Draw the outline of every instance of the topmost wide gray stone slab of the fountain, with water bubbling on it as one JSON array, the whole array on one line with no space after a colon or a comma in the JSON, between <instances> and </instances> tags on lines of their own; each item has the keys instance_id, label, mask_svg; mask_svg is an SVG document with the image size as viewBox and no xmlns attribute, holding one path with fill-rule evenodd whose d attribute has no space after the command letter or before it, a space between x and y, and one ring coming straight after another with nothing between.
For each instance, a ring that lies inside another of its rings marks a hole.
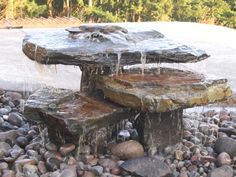
<instances>
[{"instance_id":1,"label":"topmost wide gray stone slab of the fountain, with water bubbling on it","mask_svg":"<svg viewBox=\"0 0 236 177\"><path fill-rule=\"evenodd\" d=\"M147 63L186 63L209 57L202 50L173 42L154 30L128 31L99 25L27 35L23 52L39 63L65 65L110 66L118 60L121 65L132 65L141 63L141 58L146 58Z\"/></svg>"}]
</instances>

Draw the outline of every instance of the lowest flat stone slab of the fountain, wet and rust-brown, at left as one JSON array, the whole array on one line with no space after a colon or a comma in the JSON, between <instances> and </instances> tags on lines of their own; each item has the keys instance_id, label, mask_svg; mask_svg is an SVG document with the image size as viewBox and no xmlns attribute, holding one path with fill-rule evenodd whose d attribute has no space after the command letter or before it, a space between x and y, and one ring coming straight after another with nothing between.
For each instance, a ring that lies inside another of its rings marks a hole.
<instances>
[{"instance_id":1,"label":"lowest flat stone slab of the fountain, wet and rust-brown, at left","mask_svg":"<svg viewBox=\"0 0 236 177\"><path fill-rule=\"evenodd\" d=\"M79 92L45 88L27 100L25 116L44 121L55 131L78 135L126 119L128 113L122 107Z\"/></svg>"}]
</instances>

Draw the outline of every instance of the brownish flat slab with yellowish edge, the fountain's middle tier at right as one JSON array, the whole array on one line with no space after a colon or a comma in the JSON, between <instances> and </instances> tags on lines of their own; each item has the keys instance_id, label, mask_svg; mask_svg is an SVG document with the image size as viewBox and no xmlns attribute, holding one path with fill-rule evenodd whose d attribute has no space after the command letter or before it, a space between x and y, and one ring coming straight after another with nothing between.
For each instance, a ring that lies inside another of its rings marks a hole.
<instances>
[{"instance_id":1,"label":"brownish flat slab with yellowish edge, the fountain's middle tier at right","mask_svg":"<svg viewBox=\"0 0 236 177\"><path fill-rule=\"evenodd\" d=\"M96 85L113 102L150 112L206 105L232 95L226 79L209 80L190 71L170 68L144 75L134 70L100 76Z\"/></svg>"}]
</instances>

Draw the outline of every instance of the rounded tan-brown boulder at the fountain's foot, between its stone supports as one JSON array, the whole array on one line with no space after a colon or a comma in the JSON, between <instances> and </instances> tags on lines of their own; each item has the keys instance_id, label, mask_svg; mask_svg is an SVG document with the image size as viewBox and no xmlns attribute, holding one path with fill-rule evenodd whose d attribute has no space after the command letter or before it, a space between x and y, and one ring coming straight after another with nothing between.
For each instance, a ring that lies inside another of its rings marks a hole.
<instances>
[{"instance_id":1,"label":"rounded tan-brown boulder at the fountain's foot, between its stone supports","mask_svg":"<svg viewBox=\"0 0 236 177\"><path fill-rule=\"evenodd\" d=\"M132 159L144 155L143 146L134 140L125 141L112 147L111 152L120 159Z\"/></svg>"}]
</instances>

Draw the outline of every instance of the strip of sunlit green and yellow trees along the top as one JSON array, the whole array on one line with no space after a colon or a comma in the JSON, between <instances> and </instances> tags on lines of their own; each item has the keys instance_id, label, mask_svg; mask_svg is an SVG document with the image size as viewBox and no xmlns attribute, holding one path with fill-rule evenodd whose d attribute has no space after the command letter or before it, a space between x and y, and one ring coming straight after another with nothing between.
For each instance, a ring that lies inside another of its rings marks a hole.
<instances>
[{"instance_id":1,"label":"strip of sunlit green and yellow trees along the top","mask_svg":"<svg viewBox=\"0 0 236 177\"><path fill-rule=\"evenodd\" d=\"M0 0L0 20L64 16L81 22L190 21L236 28L236 0Z\"/></svg>"}]
</instances>

